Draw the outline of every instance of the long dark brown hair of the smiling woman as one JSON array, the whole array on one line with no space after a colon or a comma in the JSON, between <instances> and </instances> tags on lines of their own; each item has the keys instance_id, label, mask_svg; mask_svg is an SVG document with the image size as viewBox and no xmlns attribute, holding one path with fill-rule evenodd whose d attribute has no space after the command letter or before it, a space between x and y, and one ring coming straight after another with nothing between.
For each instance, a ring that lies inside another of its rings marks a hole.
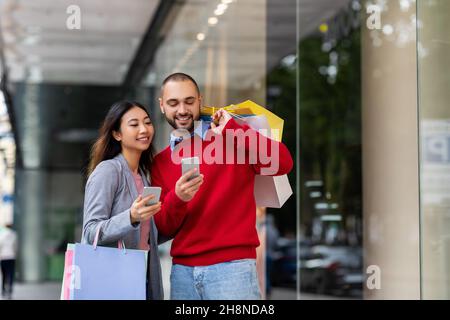
<instances>
[{"instance_id":1,"label":"long dark brown hair of the smiling woman","mask_svg":"<svg viewBox=\"0 0 450 320\"><path fill-rule=\"evenodd\" d=\"M122 151L120 142L114 139L112 134L113 131L120 130L120 123L123 115L134 107L144 110L150 118L147 109L136 101L119 101L111 106L105 120L102 123L102 126L100 127L99 137L91 148L88 176L94 171L100 162L112 159ZM150 172L154 154L153 143L151 143L150 147L142 152L141 158L139 159L139 168L141 168L147 175Z\"/></svg>"}]
</instances>

